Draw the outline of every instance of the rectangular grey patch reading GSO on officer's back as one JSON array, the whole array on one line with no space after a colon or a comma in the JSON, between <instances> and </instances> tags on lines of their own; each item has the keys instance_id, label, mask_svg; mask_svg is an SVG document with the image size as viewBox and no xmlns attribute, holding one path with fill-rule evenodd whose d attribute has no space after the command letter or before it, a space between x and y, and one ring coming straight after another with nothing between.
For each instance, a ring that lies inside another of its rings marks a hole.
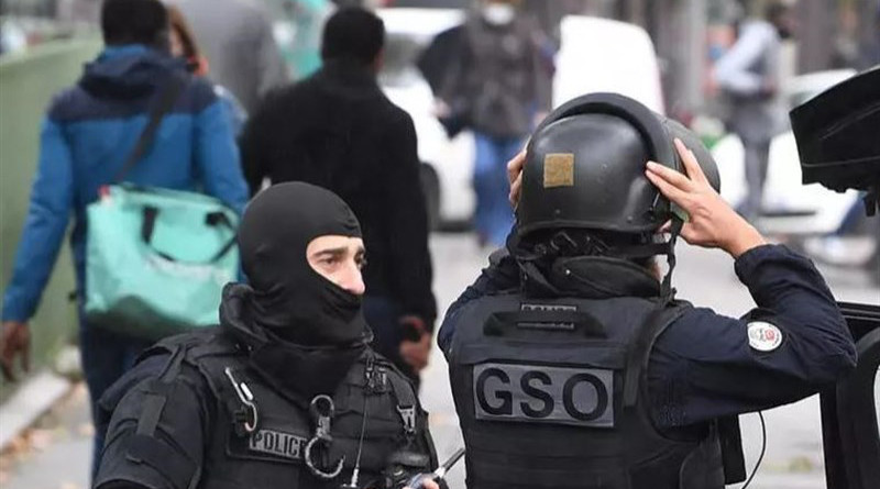
<instances>
[{"instance_id":1,"label":"rectangular grey patch reading GSO on officer's back","mask_svg":"<svg viewBox=\"0 0 880 489\"><path fill-rule=\"evenodd\" d=\"M477 420L614 426L614 373L543 365L474 366Z\"/></svg>"}]
</instances>

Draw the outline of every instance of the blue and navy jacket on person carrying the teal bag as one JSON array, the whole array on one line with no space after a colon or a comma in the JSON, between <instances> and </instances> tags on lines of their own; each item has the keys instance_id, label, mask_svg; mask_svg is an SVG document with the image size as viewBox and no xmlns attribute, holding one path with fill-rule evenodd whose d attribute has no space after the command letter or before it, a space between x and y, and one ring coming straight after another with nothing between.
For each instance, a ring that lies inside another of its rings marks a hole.
<instances>
[{"instance_id":1,"label":"blue and navy jacket on person carrying the teal bag","mask_svg":"<svg viewBox=\"0 0 880 489\"><path fill-rule=\"evenodd\" d=\"M40 302L70 214L70 245L81 291L86 207L112 184L147 122L147 111L182 62L140 45L108 47L61 92L43 122L40 162L3 321L29 320ZM211 84L189 78L152 147L125 177L138 185L200 190L241 212L248 201L239 152Z\"/></svg>"}]
</instances>

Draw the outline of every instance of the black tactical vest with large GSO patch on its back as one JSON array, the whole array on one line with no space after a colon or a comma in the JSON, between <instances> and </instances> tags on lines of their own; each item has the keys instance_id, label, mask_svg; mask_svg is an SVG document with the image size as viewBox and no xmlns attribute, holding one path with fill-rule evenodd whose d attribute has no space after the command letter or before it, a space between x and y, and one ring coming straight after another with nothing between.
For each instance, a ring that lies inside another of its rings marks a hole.
<instances>
[{"instance_id":1,"label":"black tactical vest with large GSO patch on its back","mask_svg":"<svg viewBox=\"0 0 880 489\"><path fill-rule=\"evenodd\" d=\"M660 434L645 370L684 305L487 296L460 312L450 381L468 487L722 489L714 425Z\"/></svg>"}]
</instances>

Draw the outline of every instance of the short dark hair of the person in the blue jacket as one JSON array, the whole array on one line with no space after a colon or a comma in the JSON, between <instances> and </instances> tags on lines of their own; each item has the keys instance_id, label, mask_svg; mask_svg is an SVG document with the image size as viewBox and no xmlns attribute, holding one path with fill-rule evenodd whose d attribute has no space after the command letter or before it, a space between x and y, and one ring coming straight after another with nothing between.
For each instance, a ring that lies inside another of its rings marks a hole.
<instances>
[{"instance_id":1,"label":"short dark hair of the person in the blue jacket","mask_svg":"<svg viewBox=\"0 0 880 489\"><path fill-rule=\"evenodd\" d=\"M106 44L167 44L168 12L160 0L105 0L101 32Z\"/></svg>"}]
</instances>

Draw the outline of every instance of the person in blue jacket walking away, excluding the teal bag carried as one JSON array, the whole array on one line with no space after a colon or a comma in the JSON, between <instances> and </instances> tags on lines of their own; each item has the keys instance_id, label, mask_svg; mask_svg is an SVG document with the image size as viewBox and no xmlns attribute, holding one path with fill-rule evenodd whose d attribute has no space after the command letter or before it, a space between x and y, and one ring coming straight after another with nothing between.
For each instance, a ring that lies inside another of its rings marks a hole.
<instances>
[{"instance_id":1,"label":"person in blue jacket walking away, excluding the teal bag carried","mask_svg":"<svg viewBox=\"0 0 880 489\"><path fill-rule=\"evenodd\" d=\"M168 55L163 4L106 0L101 30L105 49L86 65L76 86L54 99L43 123L31 204L3 297L0 360L10 380L16 357L26 363L28 321L40 303L70 214L77 292L86 297L86 207L98 199L102 186L114 181L147 123L147 111L172 77L185 80L174 118L163 120L153 147L130 171L129 180L170 189L202 188L239 211L248 200L222 102L210 84L186 76L184 64ZM81 302L79 345L92 408L147 346L89 324ZM96 454L101 446L96 436Z\"/></svg>"}]
</instances>

